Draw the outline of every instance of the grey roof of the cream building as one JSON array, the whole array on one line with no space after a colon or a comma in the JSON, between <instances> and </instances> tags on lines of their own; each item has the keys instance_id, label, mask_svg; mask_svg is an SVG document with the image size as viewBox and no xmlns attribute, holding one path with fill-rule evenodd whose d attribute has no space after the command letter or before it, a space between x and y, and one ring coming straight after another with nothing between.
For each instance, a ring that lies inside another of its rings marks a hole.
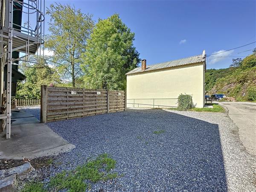
<instances>
[{"instance_id":1,"label":"grey roof of the cream building","mask_svg":"<svg viewBox=\"0 0 256 192\"><path fill-rule=\"evenodd\" d=\"M196 55L196 56L177 59L177 60L173 60L173 61L167 61L164 63L149 65L149 66L147 66L147 68L144 71L141 70L141 67L137 67L134 70L131 70L128 73L126 73L126 75L132 74L132 73L140 73L140 72L158 70L158 69L163 69L163 68L168 68L168 67L175 67L175 66L180 66L180 65L198 63L198 62L204 62L204 58L202 57L202 55Z\"/></svg>"}]
</instances>

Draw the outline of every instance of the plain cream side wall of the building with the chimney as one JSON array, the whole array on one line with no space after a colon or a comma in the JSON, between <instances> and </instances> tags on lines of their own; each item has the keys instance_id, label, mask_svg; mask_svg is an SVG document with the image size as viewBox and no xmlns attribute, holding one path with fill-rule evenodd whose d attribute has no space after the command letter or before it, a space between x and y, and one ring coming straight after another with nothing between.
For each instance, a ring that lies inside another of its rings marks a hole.
<instances>
[{"instance_id":1,"label":"plain cream side wall of the building with the chimney","mask_svg":"<svg viewBox=\"0 0 256 192\"><path fill-rule=\"evenodd\" d=\"M181 93L192 95L193 107L204 107L203 62L127 75L127 107L176 107Z\"/></svg>"}]
</instances>

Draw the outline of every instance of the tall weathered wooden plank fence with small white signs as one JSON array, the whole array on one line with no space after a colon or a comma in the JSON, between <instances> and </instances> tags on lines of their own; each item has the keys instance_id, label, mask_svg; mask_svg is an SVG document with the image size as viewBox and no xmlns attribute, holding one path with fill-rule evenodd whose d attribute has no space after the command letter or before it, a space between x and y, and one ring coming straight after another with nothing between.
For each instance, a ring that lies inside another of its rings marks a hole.
<instances>
[{"instance_id":1,"label":"tall weathered wooden plank fence with small white signs","mask_svg":"<svg viewBox=\"0 0 256 192\"><path fill-rule=\"evenodd\" d=\"M126 110L122 90L41 86L41 122Z\"/></svg>"}]
</instances>

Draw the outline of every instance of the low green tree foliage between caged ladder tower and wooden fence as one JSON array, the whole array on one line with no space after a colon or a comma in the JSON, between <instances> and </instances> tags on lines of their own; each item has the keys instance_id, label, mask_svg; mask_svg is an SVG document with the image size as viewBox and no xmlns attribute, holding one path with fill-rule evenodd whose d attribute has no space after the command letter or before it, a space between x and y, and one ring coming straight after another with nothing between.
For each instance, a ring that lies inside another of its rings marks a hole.
<instances>
[{"instance_id":1,"label":"low green tree foliage between caged ladder tower and wooden fence","mask_svg":"<svg viewBox=\"0 0 256 192\"><path fill-rule=\"evenodd\" d=\"M50 83L61 83L60 76L57 71L47 64L43 68L21 67L25 81L20 81L17 84L17 99L39 99L41 96L41 85Z\"/></svg>"}]
</instances>

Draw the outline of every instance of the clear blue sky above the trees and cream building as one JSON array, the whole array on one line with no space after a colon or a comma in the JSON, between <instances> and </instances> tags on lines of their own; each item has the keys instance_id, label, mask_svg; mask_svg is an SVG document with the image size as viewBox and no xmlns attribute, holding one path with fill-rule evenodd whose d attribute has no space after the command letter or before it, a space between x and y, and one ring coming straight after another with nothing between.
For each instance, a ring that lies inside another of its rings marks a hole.
<instances>
[{"instance_id":1,"label":"clear blue sky above the trees and cream building","mask_svg":"<svg viewBox=\"0 0 256 192\"><path fill-rule=\"evenodd\" d=\"M97 21L118 13L135 33L134 46L147 64L199 55L208 55L256 41L256 1L87 1L45 0L71 4ZM49 21L49 16L46 17ZM47 31L48 25L45 25ZM246 56L251 44L208 58L207 68L226 68L230 56ZM242 52L242 53L239 53ZM244 57L242 57L244 58Z\"/></svg>"}]
</instances>

